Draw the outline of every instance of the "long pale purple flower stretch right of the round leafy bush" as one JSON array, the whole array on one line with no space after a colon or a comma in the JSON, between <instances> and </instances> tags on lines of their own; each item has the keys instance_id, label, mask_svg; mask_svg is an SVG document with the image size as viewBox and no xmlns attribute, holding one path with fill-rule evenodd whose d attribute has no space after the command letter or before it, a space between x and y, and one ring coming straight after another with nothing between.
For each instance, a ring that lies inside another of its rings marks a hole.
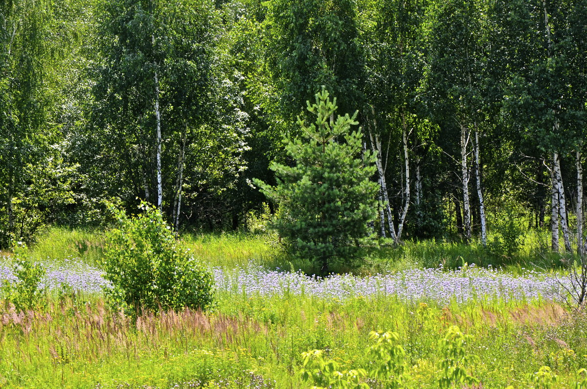
<instances>
[{"instance_id":1,"label":"long pale purple flower stretch right of the round leafy bush","mask_svg":"<svg viewBox=\"0 0 587 389\"><path fill-rule=\"evenodd\" d=\"M399 301L454 300L560 300L564 296L561 283L554 277L536 271L521 276L497 269L410 269L399 273L356 277L331 275L324 279L296 273L269 271L248 267L234 271L214 269L219 291L247 296L305 295L325 299L346 300L356 297L394 297Z\"/></svg>"}]
</instances>

